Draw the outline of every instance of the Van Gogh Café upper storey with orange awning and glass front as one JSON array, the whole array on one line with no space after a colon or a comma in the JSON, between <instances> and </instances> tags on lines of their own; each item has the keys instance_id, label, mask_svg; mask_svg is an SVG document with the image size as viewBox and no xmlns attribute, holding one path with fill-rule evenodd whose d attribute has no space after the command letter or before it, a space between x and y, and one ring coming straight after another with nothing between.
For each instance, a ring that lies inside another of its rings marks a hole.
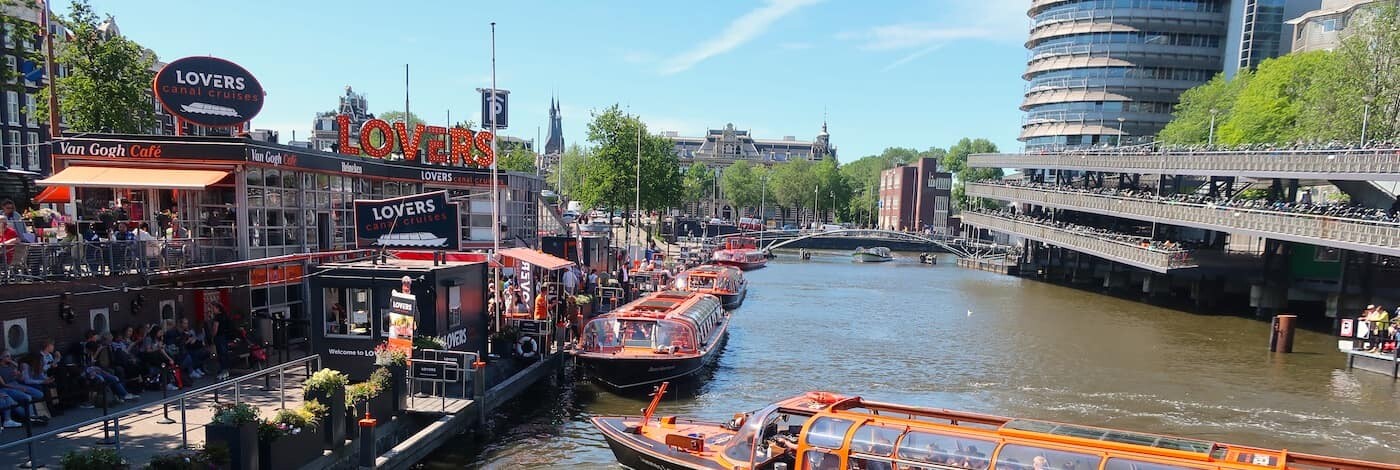
<instances>
[{"instance_id":1,"label":"Van Gogh Caf\u00e9 upper storey with orange awning and glass front","mask_svg":"<svg viewBox=\"0 0 1400 470\"><path fill-rule=\"evenodd\" d=\"M491 182L487 168L245 137L81 134L55 141L52 152L56 171L38 183L52 201L74 203L85 228L147 222L160 236L175 220L202 246L218 248L220 259L204 262L349 249L356 199L480 194ZM511 186L511 175L498 178Z\"/></svg>"}]
</instances>

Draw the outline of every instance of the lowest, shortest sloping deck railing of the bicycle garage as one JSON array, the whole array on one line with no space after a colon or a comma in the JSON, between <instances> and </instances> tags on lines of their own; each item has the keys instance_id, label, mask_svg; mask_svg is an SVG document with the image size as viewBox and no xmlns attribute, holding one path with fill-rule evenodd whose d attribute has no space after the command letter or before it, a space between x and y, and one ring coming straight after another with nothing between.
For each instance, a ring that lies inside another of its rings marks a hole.
<instances>
[{"instance_id":1,"label":"lowest, shortest sloping deck railing of the bicycle garage","mask_svg":"<svg viewBox=\"0 0 1400 470\"><path fill-rule=\"evenodd\" d=\"M962 222L998 232L1063 246L1075 252L1093 255L1106 260L1137 266L1155 273L1193 269L1196 260L1186 250L1161 250L1137 243L1096 236L1071 229L1056 228L1000 215L963 211Z\"/></svg>"}]
</instances>

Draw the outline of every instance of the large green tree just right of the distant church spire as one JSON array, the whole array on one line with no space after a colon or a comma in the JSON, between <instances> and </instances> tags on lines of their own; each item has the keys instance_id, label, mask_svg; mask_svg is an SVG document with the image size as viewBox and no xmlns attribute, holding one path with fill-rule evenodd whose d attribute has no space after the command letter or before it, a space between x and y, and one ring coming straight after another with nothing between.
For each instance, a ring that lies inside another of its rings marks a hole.
<instances>
[{"instance_id":1,"label":"large green tree just right of the distant church spire","mask_svg":"<svg viewBox=\"0 0 1400 470\"><path fill-rule=\"evenodd\" d=\"M680 197L680 168L671 138L648 134L638 118L624 115L617 105L592 116L588 123L592 155L584 165L584 187L578 192L585 206L634 206L638 150L641 208L665 208Z\"/></svg>"}]
</instances>

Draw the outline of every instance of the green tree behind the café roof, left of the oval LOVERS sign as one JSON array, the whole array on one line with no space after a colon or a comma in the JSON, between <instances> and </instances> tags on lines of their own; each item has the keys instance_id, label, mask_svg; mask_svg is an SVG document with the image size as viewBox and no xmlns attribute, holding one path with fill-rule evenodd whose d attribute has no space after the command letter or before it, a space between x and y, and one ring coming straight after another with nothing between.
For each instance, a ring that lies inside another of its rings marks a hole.
<instances>
[{"instance_id":1,"label":"green tree behind the caf\u00e9 roof, left of the oval LOVERS sign","mask_svg":"<svg viewBox=\"0 0 1400 470\"><path fill-rule=\"evenodd\" d=\"M85 0L74 0L62 21L73 38L57 50L67 77L57 78L59 112L73 131L146 133L155 126L151 66L155 55L119 35L98 31ZM39 97L38 118L48 119L49 90Z\"/></svg>"}]
</instances>

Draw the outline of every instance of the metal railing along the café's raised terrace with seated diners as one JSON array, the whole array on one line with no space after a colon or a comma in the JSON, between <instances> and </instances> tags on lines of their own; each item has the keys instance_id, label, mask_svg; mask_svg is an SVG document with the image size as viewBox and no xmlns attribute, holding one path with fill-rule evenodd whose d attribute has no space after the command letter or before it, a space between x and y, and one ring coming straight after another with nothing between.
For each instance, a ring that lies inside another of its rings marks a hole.
<instances>
[{"instance_id":1,"label":"metal railing along the caf\u00e9's raised terrace with seated diners","mask_svg":"<svg viewBox=\"0 0 1400 470\"><path fill-rule=\"evenodd\" d=\"M238 260L231 239L39 242L0 248L0 284L150 274Z\"/></svg>"}]
</instances>

